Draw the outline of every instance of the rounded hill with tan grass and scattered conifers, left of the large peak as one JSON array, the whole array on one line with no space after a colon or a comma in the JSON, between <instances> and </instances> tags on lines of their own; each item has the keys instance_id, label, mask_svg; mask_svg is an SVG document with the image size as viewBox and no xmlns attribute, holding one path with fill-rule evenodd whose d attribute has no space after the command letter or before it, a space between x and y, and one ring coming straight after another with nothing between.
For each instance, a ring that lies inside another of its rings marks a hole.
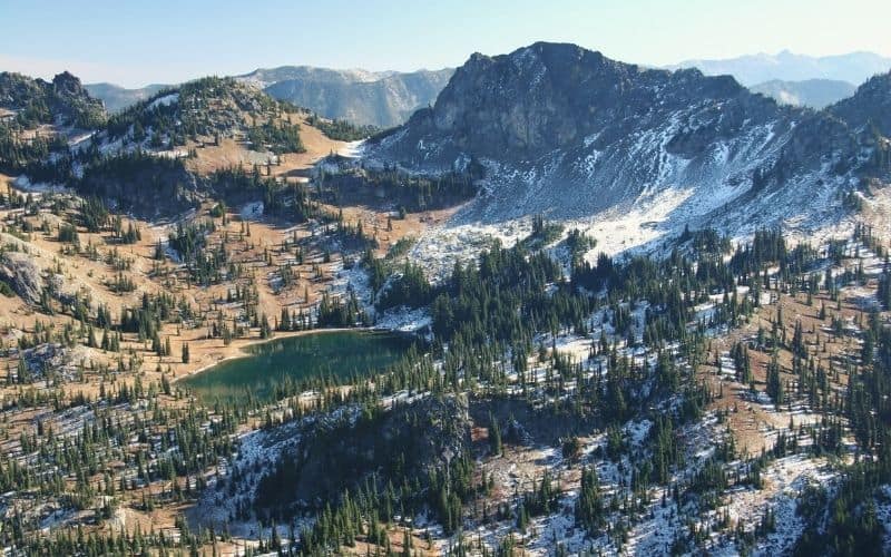
<instances>
[{"instance_id":1,"label":"rounded hill with tan grass and scattered conifers, left of the large peak","mask_svg":"<svg viewBox=\"0 0 891 557\"><path fill-rule=\"evenodd\" d=\"M77 137L72 131L59 135L58 126L22 130L33 138L11 141L6 149L19 160L7 167L22 174L17 184L31 189L65 186L119 211L158 218L194 208L207 197L229 203L262 198L260 190L234 187L233 173L260 175L262 167L266 179L277 180L273 189L283 189L305 180L317 159L345 148L345 141L330 136L353 139L371 133L278 101L233 78L189 81L107 120L101 115L92 123L95 129ZM258 187L261 180L247 182Z\"/></svg>"}]
</instances>

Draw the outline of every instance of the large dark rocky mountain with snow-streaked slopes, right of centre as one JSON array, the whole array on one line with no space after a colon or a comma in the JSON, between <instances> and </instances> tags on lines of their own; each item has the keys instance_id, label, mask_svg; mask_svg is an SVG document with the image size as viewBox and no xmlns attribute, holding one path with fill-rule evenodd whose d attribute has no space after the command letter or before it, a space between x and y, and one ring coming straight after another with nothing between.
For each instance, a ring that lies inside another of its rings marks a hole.
<instances>
[{"instance_id":1,"label":"large dark rocky mountain with snow-streaked slopes, right of centre","mask_svg":"<svg viewBox=\"0 0 891 557\"><path fill-rule=\"evenodd\" d=\"M887 98L885 85L814 113L730 76L538 42L472 55L431 108L371 141L366 160L428 174L478 160L482 193L456 223L545 214L594 225L634 214L626 224L655 237L691 223L809 229L838 221L839 195L869 170L869 140L852 118L872 114L859 108Z\"/></svg>"}]
</instances>

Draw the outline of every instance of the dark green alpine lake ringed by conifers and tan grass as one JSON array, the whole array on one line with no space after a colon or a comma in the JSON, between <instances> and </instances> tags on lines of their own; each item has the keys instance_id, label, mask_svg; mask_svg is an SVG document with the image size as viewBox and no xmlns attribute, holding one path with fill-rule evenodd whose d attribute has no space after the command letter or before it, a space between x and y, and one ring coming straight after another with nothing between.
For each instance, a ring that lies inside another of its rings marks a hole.
<instances>
[{"instance_id":1,"label":"dark green alpine lake ringed by conifers and tan grass","mask_svg":"<svg viewBox=\"0 0 891 557\"><path fill-rule=\"evenodd\" d=\"M278 339L245 350L184 378L180 384L206 403L238 401L252 395L268 400L275 384L319 377L349 378L382 371L402 358L417 341L408 335L371 331L320 331Z\"/></svg>"}]
</instances>

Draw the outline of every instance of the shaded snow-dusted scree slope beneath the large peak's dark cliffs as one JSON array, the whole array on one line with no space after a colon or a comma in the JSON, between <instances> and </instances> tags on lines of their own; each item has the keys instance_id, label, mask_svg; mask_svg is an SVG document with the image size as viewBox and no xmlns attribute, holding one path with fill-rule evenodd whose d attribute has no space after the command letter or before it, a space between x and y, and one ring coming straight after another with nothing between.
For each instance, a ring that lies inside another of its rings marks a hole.
<instances>
[{"instance_id":1,"label":"shaded snow-dusted scree slope beneath the large peak's dark cliffs","mask_svg":"<svg viewBox=\"0 0 891 557\"><path fill-rule=\"evenodd\" d=\"M634 211L663 209L674 219L704 217L752 188L752 173L777 156L782 146L773 123L716 140L694 156L669 148L697 107L674 113L656 128L642 129L610 145L586 138L536 162L487 159L480 199L460 215L464 222L498 223L525 215L581 219ZM785 133L789 135L789 131Z\"/></svg>"}]
</instances>

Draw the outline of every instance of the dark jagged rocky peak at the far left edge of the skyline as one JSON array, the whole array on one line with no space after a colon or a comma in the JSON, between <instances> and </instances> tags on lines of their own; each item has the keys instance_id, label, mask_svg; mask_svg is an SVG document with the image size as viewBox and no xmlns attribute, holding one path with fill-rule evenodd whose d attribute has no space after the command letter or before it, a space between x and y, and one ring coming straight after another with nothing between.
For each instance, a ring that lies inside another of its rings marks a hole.
<instances>
[{"instance_id":1,"label":"dark jagged rocky peak at the far left edge of the skyline","mask_svg":"<svg viewBox=\"0 0 891 557\"><path fill-rule=\"evenodd\" d=\"M106 118L102 104L67 71L52 81L0 72L0 108L16 113L18 123L26 128L39 124L91 128Z\"/></svg>"}]
</instances>

